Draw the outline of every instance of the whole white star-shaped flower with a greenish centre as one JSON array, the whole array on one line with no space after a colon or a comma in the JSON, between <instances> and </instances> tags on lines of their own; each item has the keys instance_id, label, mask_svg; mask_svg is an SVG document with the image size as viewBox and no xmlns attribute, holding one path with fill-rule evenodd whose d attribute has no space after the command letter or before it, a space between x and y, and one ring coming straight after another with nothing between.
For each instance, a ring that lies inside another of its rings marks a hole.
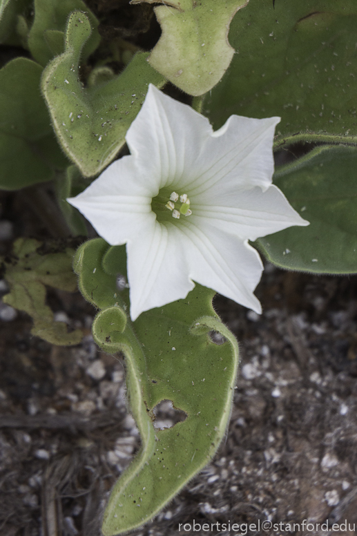
<instances>
[{"instance_id":1,"label":"whole white star-shaped flower with a greenish centre","mask_svg":"<svg viewBox=\"0 0 357 536\"><path fill-rule=\"evenodd\" d=\"M110 245L126 244L131 318L194 281L260 313L262 261L248 240L308 225L271 184L279 117L208 119L149 86L116 160L68 199Z\"/></svg>"}]
</instances>

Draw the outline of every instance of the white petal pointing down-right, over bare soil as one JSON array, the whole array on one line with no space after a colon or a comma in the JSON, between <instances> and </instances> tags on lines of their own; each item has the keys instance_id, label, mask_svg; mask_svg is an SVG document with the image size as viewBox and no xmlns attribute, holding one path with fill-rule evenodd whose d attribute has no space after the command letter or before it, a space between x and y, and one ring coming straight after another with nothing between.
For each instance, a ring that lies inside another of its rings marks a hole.
<instances>
[{"instance_id":1,"label":"white petal pointing down-right, over bare soil","mask_svg":"<svg viewBox=\"0 0 357 536\"><path fill-rule=\"evenodd\" d=\"M202 232L189 222L180 229L189 239L185 251L189 277L237 303L262 312L253 290L262 275L262 260L248 241L224 234L207 225Z\"/></svg>"}]
</instances>

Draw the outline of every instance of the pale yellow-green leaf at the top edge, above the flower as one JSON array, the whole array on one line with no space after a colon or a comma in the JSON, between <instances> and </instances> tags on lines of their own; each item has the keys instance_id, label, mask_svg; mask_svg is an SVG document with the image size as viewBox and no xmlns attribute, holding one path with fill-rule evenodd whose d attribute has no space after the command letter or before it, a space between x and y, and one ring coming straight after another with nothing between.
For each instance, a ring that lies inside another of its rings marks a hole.
<instances>
[{"instance_id":1,"label":"pale yellow-green leaf at the top edge, above the flower","mask_svg":"<svg viewBox=\"0 0 357 536\"><path fill-rule=\"evenodd\" d=\"M234 54L228 42L235 12L249 0L132 0L155 7L162 36L149 63L189 95L202 95L220 81Z\"/></svg>"}]
</instances>

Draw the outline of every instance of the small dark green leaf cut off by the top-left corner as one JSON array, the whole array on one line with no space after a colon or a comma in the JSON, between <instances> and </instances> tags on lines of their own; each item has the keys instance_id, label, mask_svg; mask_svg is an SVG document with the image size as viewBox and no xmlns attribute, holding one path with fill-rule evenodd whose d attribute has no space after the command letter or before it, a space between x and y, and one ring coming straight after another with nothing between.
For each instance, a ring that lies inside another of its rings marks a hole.
<instances>
[{"instance_id":1,"label":"small dark green leaf cut off by the top-left corner","mask_svg":"<svg viewBox=\"0 0 357 536\"><path fill-rule=\"evenodd\" d=\"M26 12L31 0L0 0L0 43L22 46L22 39L17 35L19 17ZM23 20L21 19L21 22Z\"/></svg>"}]
</instances>

